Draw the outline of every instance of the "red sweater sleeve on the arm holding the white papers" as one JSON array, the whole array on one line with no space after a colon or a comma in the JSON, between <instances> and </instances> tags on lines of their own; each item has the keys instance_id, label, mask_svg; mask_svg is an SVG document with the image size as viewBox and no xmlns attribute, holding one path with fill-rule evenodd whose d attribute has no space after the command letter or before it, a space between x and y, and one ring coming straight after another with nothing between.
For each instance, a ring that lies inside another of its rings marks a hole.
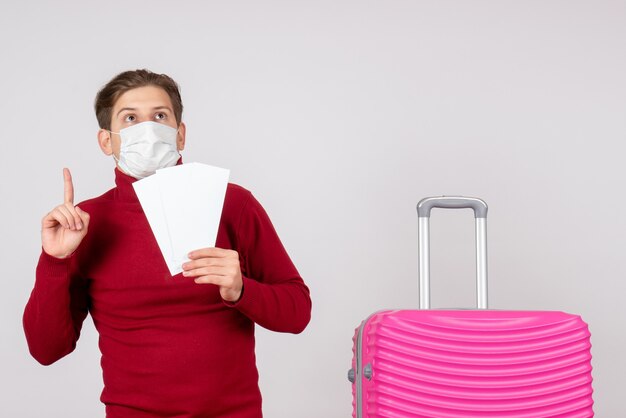
<instances>
[{"instance_id":1,"label":"red sweater sleeve on the arm holding the white papers","mask_svg":"<svg viewBox=\"0 0 626 418\"><path fill-rule=\"evenodd\" d=\"M309 289L251 194L241 212L237 238L243 295L230 306L269 330L302 332L311 319Z\"/></svg>"}]
</instances>

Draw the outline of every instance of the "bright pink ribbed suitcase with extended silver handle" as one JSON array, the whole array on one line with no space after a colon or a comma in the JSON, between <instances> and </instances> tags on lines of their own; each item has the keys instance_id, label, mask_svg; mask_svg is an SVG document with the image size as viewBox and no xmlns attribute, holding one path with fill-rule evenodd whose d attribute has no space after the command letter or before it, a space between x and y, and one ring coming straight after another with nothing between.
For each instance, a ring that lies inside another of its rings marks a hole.
<instances>
[{"instance_id":1,"label":"bright pink ribbed suitcase with extended silver handle","mask_svg":"<svg viewBox=\"0 0 626 418\"><path fill-rule=\"evenodd\" d=\"M477 310L430 310L434 207L472 208ZM354 336L353 417L593 417L591 343L578 315L487 309L487 205L466 197L417 205L420 310L384 310Z\"/></svg>"}]
</instances>

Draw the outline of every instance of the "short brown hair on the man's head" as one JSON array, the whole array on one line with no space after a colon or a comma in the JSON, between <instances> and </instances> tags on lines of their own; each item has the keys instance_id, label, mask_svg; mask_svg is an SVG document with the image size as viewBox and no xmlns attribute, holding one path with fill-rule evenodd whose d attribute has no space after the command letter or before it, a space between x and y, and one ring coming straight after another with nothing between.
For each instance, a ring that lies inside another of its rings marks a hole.
<instances>
[{"instance_id":1,"label":"short brown hair on the man's head","mask_svg":"<svg viewBox=\"0 0 626 418\"><path fill-rule=\"evenodd\" d=\"M156 86L165 90L172 101L176 123L180 124L183 116L183 102L180 98L178 84L166 74L156 74L150 70L143 69L124 71L116 75L98 92L94 108L100 128L111 129L111 112L113 111L115 102L117 102L117 99L119 99L122 94L129 90L145 86Z\"/></svg>"}]
</instances>

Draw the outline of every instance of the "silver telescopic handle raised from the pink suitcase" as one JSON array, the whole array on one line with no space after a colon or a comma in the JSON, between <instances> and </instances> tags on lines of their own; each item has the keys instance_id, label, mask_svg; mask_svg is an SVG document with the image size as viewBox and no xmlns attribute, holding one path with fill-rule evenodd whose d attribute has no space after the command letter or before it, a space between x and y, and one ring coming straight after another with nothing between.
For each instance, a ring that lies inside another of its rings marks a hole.
<instances>
[{"instance_id":1,"label":"silver telescopic handle raised from the pink suitcase","mask_svg":"<svg viewBox=\"0 0 626 418\"><path fill-rule=\"evenodd\" d=\"M417 204L419 307L430 309L430 211L432 208L473 209L476 218L476 305L488 308L487 204L475 197L427 197Z\"/></svg>"}]
</instances>

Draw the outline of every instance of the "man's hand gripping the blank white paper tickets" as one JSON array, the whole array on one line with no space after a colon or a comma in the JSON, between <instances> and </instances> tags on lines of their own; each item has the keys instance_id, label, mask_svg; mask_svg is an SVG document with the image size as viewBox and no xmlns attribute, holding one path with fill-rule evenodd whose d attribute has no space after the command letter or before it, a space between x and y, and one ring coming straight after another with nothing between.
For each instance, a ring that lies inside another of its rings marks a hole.
<instances>
[{"instance_id":1,"label":"man's hand gripping the blank white paper tickets","mask_svg":"<svg viewBox=\"0 0 626 418\"><path fill-rule=\"evenodd\" d=\"M196 283L219 286L220 295L227 302L239 300L243 280L237 251L202 248L190 252L189 259L183 264L183 276L195 277Z\"/></svg>"}]
</instances>

